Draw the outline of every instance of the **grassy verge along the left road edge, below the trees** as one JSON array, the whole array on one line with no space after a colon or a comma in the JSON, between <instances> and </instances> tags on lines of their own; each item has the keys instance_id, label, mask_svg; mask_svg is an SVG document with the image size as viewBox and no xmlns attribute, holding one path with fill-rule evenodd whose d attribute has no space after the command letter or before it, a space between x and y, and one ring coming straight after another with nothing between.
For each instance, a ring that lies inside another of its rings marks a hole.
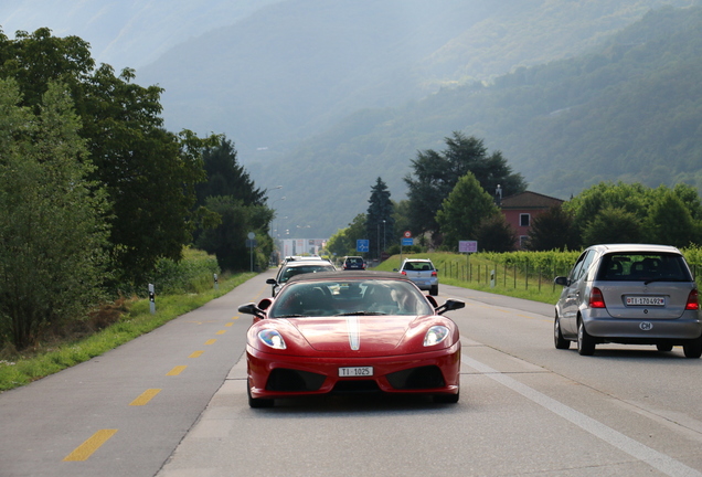
<instances>
[{"instance_id":1,"label":"grassy verge along the left road edge, below the trees","mask_svg":"<svg viewBox=\"0 0 702 477\"><path fill-rule=\"evenodd\" d=\"M255 274L245 273L220 279L220 287L216 290L158 296L153 315L151 315L148 299L128 300L125 305L127 311L119 320L100 331L77 340L40 346L31 351L0 360L0 391L19 388L103 354L225 295L253 276Z\"/></svg>"}]
</instances>

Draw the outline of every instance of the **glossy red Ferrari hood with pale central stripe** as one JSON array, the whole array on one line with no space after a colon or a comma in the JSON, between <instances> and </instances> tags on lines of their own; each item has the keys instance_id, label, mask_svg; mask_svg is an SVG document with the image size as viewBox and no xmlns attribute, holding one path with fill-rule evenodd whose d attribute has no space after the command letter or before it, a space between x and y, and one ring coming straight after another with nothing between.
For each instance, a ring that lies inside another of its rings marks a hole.
<instances>
[{"instance_id":1,"label":"glossy red Ferrari hood with pale central stripe","mask_svg":"<svg viewBox=\"0 0 702 477\"><path fill-rule=\"evenodd\" d=\"M390 352L397 348L415 316L291 318L290 324L317 351Z\"/></svg>"}]
</instances>

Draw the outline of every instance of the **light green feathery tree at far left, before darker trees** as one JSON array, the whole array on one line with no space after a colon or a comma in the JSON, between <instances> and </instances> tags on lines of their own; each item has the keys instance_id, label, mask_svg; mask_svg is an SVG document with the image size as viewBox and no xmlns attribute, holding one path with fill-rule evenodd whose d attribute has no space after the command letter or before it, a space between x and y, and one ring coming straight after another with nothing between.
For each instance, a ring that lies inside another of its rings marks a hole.
<instances>
[{"instance_id":1,"label":"light green feathery tree at far left, before darker trees","mask_svg":"<svg viewBox=\"0 0 702 477\"><path fill-rule=\"evenodd\" d=\"M71 98L50 83L36 116L20 98L0 80L0 338L18 349L84 315L108 277L107 202Z\"/></svg>"}]
</instances>

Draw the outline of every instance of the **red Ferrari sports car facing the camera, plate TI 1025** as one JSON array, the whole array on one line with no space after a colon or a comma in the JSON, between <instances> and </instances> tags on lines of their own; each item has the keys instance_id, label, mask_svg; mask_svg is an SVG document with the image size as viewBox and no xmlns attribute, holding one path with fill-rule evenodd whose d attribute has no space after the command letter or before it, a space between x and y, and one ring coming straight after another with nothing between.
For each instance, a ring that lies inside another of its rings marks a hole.
<instances>
[{"instance_id":1,"label":"red Ferrari sports car facing the camera, plate TI 1025","mask_svg":"<svg viewBox=\"0 0 702 477\"><path fill-rule=\"evenodd\" d=\"M242 305L254 316L246 359L248 404L344 392L459 398L460 339L437 306L404 275L322 272L290 278L275 298Z\"/></svg>"}]
</instances>

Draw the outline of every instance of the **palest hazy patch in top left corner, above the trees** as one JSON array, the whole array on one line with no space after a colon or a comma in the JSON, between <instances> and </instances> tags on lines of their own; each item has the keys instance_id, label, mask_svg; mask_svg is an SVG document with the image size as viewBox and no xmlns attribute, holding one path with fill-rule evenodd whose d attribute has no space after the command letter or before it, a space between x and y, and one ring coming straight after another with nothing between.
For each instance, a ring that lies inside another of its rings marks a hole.
<instances>
[{"instance_id":1,"label":"palest hazy patch in top left corner, above the trees","mask_svg":"<svg viewBox=\"0 0 702 477\"><path fill-rule=\"evenodd\" d=\"M174 45L279 0L3 0L6 35L47 26L91 43L99 63L140 67Z\"/></svg>"}]
</instances>

